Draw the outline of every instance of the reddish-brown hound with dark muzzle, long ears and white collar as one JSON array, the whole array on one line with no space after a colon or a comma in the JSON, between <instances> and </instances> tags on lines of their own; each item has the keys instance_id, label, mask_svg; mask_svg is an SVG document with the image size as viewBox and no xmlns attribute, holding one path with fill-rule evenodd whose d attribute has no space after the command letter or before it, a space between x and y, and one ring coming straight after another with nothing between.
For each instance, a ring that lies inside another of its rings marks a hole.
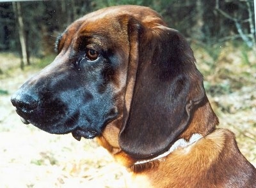
<instances>
[{"instance_id":1,"label":"reddish-brown hound with dark muzzle, long ears and white collar","mask_svg":"<svg viewBox=\"0 0 256 188\"><path fill-rule=\"evenodd\" d=\"M216 128L188 42L156 11L89 13L56 50L12 96L22 122L97 138L131 173L131 187L256 187L234 134Z\"/></svg>"}]
</instances>

